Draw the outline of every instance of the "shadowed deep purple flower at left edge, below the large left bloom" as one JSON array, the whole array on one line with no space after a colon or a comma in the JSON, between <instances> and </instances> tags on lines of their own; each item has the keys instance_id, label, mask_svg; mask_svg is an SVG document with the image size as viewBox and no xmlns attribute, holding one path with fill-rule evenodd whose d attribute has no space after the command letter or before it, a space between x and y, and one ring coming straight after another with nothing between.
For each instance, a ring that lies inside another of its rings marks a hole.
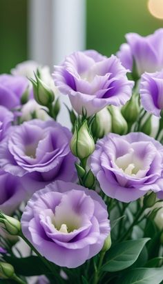
<instances>
[{"instance_id":1,"label":"shadowed deep purple flower at left edge, below the large left bloom","mask_svg":"<svg viewBox=\"0 0 163 284\"><path fill-rule=\"evenodd\" d=\"M18 176L0 170L0 210L12 214L26 198Z\"/></svg>"}]
</instances>

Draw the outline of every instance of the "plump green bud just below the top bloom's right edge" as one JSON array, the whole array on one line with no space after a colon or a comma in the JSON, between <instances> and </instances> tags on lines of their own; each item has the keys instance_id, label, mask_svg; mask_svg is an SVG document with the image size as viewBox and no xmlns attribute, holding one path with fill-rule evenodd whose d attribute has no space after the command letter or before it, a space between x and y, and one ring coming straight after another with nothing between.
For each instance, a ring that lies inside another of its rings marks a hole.
<instances>
[{"instance_id":1,"label":"plump green bud just below the top bloom's right edge","mask_svg":"<svg viewBox=\"0 0 163 284\"><path fill-rule=\"evenodd\" d=\"M139 95L133 94L131 99L122 107L122 114L128 123L134 123L140 114Z\"/></svg>"}]
</instances>

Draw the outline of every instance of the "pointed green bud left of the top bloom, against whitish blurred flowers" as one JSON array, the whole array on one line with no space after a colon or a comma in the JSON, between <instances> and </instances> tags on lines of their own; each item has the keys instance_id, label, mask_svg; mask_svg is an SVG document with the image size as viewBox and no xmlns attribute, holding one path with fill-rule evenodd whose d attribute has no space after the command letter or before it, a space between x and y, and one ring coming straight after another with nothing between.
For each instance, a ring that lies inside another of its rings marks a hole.
<instances>
[{"instance_id":1,"label":"pointed green bud left of the top bloom, against whitish blurred flowers","mask_svg":"<svg viewBox=\"0 0 163 284\"><path fill-rule=\"evenodd\" d=\"M44 105L44 106L50 105L52 101L54 101L55 99L54 92L36 74L35 78L36 81L30 79L33 85L33 93L35 100L37 101L37 103L39 103L39 105Z\"/></svg>"}]
</instances>

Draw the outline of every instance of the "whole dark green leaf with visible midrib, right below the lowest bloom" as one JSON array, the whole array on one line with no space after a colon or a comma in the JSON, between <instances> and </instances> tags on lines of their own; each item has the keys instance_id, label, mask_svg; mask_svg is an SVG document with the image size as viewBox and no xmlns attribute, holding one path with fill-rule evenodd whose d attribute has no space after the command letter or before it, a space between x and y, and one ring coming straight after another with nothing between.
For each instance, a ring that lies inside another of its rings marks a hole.
<instances>
[{"instance_id":1,"label":"whole dark green leaf with visible midrib, right below the lowest bloom","mask_svg":"<svg viewBox=\"0 0 163 284\"><path fill-rule=\"evenodd\" d=\"M124 241L113 245L108 252L108 259L102 266L102 270L116 272L133 265L147 241L149 239L146 238Z\"/></svg>"}]
</instances>

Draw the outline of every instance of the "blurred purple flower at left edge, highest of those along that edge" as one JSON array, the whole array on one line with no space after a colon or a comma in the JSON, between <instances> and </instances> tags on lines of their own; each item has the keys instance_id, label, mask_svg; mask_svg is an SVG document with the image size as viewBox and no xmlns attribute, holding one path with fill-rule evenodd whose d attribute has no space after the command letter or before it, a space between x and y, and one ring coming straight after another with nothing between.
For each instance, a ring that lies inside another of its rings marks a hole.
<instances>
[{"instance_id":1,"label":"blurred purple flower at left edge, highest of those along that edge","mask_svg":"<svg viewBox=\"0 0 163 284\"><path fill-rule=\"evenodd\" d=\"M21 97L27 90L29 81L25 77L0 75L0 105L9 110L21 105Z\"/></svg>"}]
</instances>

